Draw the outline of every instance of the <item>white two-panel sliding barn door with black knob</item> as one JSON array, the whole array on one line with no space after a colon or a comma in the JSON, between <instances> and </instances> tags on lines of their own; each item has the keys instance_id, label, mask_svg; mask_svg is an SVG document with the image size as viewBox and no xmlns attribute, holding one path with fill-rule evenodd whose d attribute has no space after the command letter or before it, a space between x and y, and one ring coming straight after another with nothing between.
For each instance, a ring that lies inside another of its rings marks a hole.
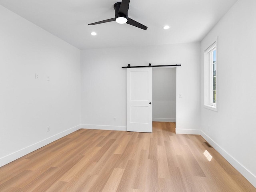
<instances>
[{"instance_id":1,"label":"white two-panel sliding barn door with black knob","mask_svg":"<svg viewBox=\"0 0 256 192\"><path fill-rule=\"evenodd\" d=\"M127 68L127 131L152 133L152 68Z\"/></svg>"}]
</instances>

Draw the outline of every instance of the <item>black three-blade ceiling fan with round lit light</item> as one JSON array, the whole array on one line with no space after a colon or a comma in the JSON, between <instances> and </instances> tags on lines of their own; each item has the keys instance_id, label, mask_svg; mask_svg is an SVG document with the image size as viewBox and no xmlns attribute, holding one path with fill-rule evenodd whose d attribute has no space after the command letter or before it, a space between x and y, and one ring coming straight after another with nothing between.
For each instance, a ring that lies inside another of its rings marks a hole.
<instances>
[{"instance_id":1,"label":"black three-blade ceiling fan with round lit light","mask_svg":"<svg viewBox=\"0 0 256 192\"><path fill-rule=\"evenodd\" d=\"M111 19L107 19L107 20L103 20L95 23L90 23L88 25L97 25L101 23L116 21L119 24L127 23L129 25L141 28L143 30L147 30L148 27L140 24L139 22L132 20L131 18L128 18L129 3L130 3L130 0L122 0L122 2L115 3L114 4L115 18L111 18Z\"/></svg>"}]
</instances>

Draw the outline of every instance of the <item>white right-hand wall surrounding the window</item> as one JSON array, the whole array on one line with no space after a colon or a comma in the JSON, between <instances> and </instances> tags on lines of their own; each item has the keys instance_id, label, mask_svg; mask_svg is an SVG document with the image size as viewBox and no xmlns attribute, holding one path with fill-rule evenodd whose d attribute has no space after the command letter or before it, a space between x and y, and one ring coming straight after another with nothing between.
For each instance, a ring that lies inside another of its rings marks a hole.
<instances>
[{"instance_id":1,"label":"white right-hand wall surrounding the window","mask_svg":"<svg viewBox=\"0 0 256 192\"><path fill-rule=\"evenodd\" d=\"M218 112L204 108L203 101L201 102L202 135L254 186L256 186L255 10L255 0L238 0L201 43L203 69L204 50L218 36ZM203 90L203 70L201 77ZM203 94L201 98L204 98Z\"/></svg>"}]
</instances>

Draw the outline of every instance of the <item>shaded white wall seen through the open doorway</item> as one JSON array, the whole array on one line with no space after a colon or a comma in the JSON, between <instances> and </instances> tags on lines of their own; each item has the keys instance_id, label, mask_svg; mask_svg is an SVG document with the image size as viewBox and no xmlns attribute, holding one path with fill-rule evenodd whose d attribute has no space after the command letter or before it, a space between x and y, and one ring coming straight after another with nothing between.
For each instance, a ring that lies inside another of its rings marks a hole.
<instances>
[{"instance_id":1,"label":"shaded white wall seen through the open doorway","mask_svg":"<svg viewBox=\"0 0 256 192\"><path fill-rule=\"evenodd\" d=\"M153 121L176 122L176 67L153 68Z\"/></svg>"}]
</instances>

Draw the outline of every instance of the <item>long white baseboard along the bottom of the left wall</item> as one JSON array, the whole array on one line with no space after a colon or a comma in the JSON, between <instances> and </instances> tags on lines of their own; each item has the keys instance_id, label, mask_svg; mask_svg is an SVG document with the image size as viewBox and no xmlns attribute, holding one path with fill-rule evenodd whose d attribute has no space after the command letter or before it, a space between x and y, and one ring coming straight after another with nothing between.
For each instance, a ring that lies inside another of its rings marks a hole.
<instances>
[{"instance_id":1,"label":"long white baseboard along the bottom of the left wall","mask_svg":"<svg viewBox=\"0 0 256 192\"><path fill-rule=\"evenodd\" d=\"M20 149L20 150L18 150L16 152L13 152L13 153L8 154L8 155L6 155L4 157L1 157L0 158L0 167L4 166L4 165L6 165L6 164L8 164L8 163L10 163L10 162L12 162L14 160L16 160L16 159L18 159L18 158L20 158L20 157L22 157L22 156L24 156L26 154L29 154L30 152L33 152L34 150L37 150L38 148L41 148L41 147L43 147L43 146L45 146L45 145L47 145L49 143L52 143L53 141L56 141L56 140L66 136L66 135L68 135L70 133L73 133L74 131L77 131L78 129L81 129L80 125L77 125L76 127L72 127L72 128L67 129L65 131L62 131L62 132L60 132L60 133L58 133L56 135L53 135L51 137L48 137L48 138L46 138L46 139L44 139L42 141L39 141L39 142L34 143L34 144L30 145L30 146L22 148L22 149Z\"/></svg>"}]
</instances>

